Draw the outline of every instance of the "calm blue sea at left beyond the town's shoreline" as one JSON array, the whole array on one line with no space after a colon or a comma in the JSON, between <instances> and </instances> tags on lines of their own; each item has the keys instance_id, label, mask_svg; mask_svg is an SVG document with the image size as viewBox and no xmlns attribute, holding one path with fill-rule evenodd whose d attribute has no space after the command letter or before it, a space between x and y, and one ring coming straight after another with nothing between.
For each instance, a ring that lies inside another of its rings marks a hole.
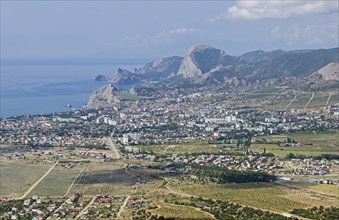
<instances>
[{"instance_id":1,"label":"calm blue sea at left beyond the town's shoreline","mask_svg":"<svg viewBox=\"0 0 339 220\"><path fill-rule=\"evenodd\" d=\"M118 67L133 65L2 65L0 117L67 111L79 108L91 93L107 84L93 78L112 76ZM129 89L133 85L117 85Z\"/></svg>"}]
</instances>

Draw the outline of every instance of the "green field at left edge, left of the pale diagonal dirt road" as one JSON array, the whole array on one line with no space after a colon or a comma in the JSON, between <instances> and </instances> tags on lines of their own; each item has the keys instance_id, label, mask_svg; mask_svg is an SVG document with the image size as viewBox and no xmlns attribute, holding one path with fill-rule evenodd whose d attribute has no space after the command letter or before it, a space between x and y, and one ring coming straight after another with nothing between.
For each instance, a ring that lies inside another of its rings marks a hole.
<instances>
[{"instance_id":1,"label":"green field at left edge, left of the pale diagonal dirt road","mask_svg":"<svg viewBox=\"0 0 339 220\"><path fill-rule=\"evenodd\" d=\"M44 163L1 161L0 194L15 197L23 195L51 166L52 164Z\"/></svg>"}]
</instances>

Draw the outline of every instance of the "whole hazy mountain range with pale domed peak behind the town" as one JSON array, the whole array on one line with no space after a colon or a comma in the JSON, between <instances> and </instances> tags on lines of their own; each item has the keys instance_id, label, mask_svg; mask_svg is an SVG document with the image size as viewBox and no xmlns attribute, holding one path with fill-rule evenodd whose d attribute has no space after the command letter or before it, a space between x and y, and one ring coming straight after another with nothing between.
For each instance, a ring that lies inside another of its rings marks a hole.
<instances>
[{"instance_id":1,"label":"whole hazy mountain range with pale domed peak behind the town","mask_svg":"<svg viewBox=\"0 0 339 220\"><path fill-rule=\"evenodd\" d=\"M185 57L166 57L133 71L118 69L96 77L115 83L143 83L163 88L216 88L230 91L288 85L303 90L339 87L339 48L283 51L262 50L231 56L221 49L195 45ZM105 91L111 87L105 87ZM137 93L140 89L134 89ZM100 93L100 92L99 92ZM97 97L100 97L98 91ZM107 93L107 91L106 91ZM107 94L106 94L107 95Z\"/></svg>"}]
</instances>

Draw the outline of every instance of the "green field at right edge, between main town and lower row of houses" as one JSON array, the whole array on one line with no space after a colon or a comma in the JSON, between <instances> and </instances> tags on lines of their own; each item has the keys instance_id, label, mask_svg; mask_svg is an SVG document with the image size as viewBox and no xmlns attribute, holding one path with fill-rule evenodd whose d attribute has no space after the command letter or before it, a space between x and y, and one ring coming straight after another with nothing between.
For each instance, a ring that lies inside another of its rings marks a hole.
<instances>
[{"instance_id":1,"label":"green field at right edge, between main town and lower row of houses","mask_svg":"<svg viewBox=\"0 0 339 220\"><path fill-rule=\"evenodd\" d=\"M284 142L287 138L294 139L305 146L298 147L280 147L274 142ZM296 132L286 133L284 135L258 136L257 139L266 139L271 144L253 144L252 149L255 152L273 153L275 156L284 158L287 154L303 154L306 156L317 156L321 154L338 154L339 133L329 132Z\"/></svg>"}]
</instances>

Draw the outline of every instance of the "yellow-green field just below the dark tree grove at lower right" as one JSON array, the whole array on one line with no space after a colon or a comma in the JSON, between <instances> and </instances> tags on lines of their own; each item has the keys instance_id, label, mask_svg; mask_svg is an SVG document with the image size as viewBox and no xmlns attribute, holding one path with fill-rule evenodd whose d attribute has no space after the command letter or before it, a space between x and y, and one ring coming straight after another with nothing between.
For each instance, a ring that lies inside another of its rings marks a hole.
<instances>
[{"instance_id":1,"label":"yellow-green field just below the dark tree grove at lower right","mask_svg":"<svg viewBox=\"0 0 339 220\"><path fill-rule=\"evenodd\" d=\"M227 200L278 212L288 212L293 208L307 206L304 203L285 198L287 191L284 188L261 183L193 185L191 187L182 187L181 190L194 196Z\"/></svg>"}]
</instances>

